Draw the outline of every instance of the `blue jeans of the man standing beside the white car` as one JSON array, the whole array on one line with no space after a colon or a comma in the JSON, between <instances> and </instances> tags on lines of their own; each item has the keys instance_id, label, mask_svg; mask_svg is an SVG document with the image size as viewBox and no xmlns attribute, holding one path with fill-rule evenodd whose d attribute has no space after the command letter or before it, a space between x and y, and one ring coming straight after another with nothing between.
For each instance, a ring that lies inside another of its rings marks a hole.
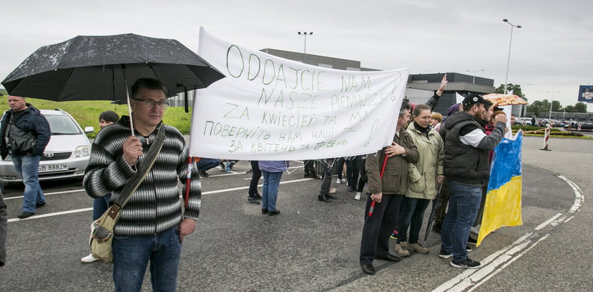
<instances>
[{"instance_id":1,"label":"blue jeans of the man standing beside the white car","mask_svg":"<svg viewBox=\"0 0 593 292\"><path fill-rule=\"evenodd\" d=\"M27 154L11 154L14 168L18 175L23 178L25 192L23 193L23 211L35 213L35 204L43 204L45 196L39 185L37 168L41 160L40 155L29 156Z\"/></svg>"}]
</instances>

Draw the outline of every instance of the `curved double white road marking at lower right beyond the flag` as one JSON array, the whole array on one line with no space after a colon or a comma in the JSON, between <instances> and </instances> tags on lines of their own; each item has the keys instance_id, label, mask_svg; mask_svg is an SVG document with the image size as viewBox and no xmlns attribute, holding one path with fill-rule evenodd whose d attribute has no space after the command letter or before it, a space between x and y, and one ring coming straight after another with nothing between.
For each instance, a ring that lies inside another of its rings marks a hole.
<instances>
[{"instance_id":1,"label":"curved double white road marking at lower right beyond the flag","mask_svg":"<svg viewBox=\"0 0 593 292\"><path fill-rule=\"evenodd\" d=\"M558 178L561 178L568 185L570 185L570 188L573 188L573 191L575 192L575 202L573 202L573 205L570 207L568 212L554 215L550 219L544 221L544 223L535 227L534 230L536 231L544 229L549 225L557 226L558 224L562 224L569 221L570 219L573 219L575 214L580 211L580 207L585 200L585 197L582 195L582 191L578 185L564 176L558 176ZM473 291L475 288L479 287L481 284L484 284L493 276L508 267L509 264L515 262L515 260L518 260L520 257L525 255L525 253L534 248L535 245L548 238L550 233L541 236L541 238L532 243L537 238L537 236L539 236L539 234L533 232L521 236L521 238L517 239L512 244L502 248L501 250L498 250L492 255L489 255L489 257L486 257L486 259L481 260L481 267L479 269L467 269L461 274L455 276L455 278L441 284L441 286L438 286L433 291L465 291L467 288L469 288L468 291Z\"/></svg>"}]
</instances>

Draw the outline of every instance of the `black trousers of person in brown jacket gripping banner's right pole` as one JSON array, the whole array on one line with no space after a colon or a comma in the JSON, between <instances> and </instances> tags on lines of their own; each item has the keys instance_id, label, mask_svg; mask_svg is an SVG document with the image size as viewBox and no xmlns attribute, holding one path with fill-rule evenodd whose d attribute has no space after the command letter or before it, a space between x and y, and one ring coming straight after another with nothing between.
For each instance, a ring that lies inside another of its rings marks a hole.
<instances>
[{"instance_id":1,"label":"black trousers of person in brown jacket gripping banner's right pole","mask_svg":"<svg viewBox=\"0 0 593 292\"><path fill-rule=\"evenodd\" d=\"M373 216L369 217L371 194L366 194L364 227L360 241L360 263L372 264L375 257L385 257L389 253L389 236L397 226L400 216L400 202L403 195L385 195L381 203L375 204Z\"/></svg>"}]
</instances>

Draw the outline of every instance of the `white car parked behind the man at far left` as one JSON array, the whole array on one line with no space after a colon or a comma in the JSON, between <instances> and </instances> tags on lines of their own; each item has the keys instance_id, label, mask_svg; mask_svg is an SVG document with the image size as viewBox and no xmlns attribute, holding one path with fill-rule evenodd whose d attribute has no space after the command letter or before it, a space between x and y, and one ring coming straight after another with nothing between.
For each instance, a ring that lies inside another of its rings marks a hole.
<instances>
[{"instance_id":1,"label":"white car parked behind the man at far left","mask_svg":"<svg viewBox=\"0 0 593 292\"><path fill-rule=\"evenodd\" d=\"M90 158L90 141L85 133L93 127L80 128L78 123L61 109L41 109L52 130L39 165L40 181L83 178ZM14 168L10 154L0 161L0 183L17 183L21 178Z\"/></svg>"}]
</instances>

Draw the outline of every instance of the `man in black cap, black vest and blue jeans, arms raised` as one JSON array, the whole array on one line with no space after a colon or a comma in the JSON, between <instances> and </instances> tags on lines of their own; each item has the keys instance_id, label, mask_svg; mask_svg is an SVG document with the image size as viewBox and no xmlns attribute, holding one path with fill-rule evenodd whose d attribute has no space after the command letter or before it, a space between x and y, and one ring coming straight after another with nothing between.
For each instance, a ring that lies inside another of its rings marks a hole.
<instances>
[{"instance_id":1,"label":"man in black cap, black vest and blue jeans, arms raised","mask_svg":"<svg viewBox=\"0 0 593 292\"><path fill-rule=\"evenodd\" d=\"M482 185L490 176L489 154L501 142L507 118L498 115L491 135L481 120L486 114L484 97L470 94L463 99L463 111L451 115L445 127L443 172L449 184L449 209L441 229L441 258L453 257L453 267L477 269L479 262L467 257L469 229L480 207ZM443 132L441 132L443 133Z\"/></svg>"}]
</instances>

